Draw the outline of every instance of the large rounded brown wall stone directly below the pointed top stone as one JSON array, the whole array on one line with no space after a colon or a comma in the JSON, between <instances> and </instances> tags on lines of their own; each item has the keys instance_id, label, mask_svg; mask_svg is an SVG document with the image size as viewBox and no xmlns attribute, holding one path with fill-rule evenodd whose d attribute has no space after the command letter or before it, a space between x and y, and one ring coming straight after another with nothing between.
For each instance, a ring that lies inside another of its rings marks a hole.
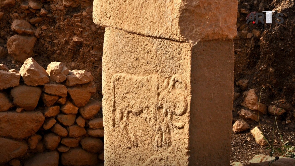
<instances>
[{"instance_id":1,"label":"large rounded brown wall stone directly below the pointed top stone","mask_svg":"<svg viewBox=\"0 0 295 166\"><path fill-rule=\"evenodd\" d=\"M34 110L41 96L40 87L20 85L11 90L13 104L25 110Z\"/></svg>"}]
</instances>

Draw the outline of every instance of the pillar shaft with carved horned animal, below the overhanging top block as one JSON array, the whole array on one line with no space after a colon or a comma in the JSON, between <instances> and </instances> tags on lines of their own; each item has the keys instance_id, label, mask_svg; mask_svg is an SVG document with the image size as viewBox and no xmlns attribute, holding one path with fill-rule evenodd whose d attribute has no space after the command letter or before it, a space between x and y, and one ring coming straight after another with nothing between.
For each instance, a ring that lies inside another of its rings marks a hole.
<instances>
[{"instance_id":1,"label":"pillar shaft with carved horned animal, below the overhanging top block","mask_svg":"<svg viewBox=\"0 0 295 166\"><path fill-rule=\"evenodd\" d=\"M233 51L232 40L181 43L107 27L104 165L230 165Z\"/></svg>"}]
</instances>

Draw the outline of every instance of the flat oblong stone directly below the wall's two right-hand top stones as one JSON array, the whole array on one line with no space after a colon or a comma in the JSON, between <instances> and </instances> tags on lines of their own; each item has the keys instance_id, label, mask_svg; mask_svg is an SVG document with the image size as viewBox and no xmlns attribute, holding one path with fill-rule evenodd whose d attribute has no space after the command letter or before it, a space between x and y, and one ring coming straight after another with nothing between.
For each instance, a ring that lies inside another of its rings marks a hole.
<instances>
[{"instance_id":1,"label":"flat oblong stone directly below the wall's two right-hand top stones","mask_svg":"<svg viewBox=\"0 0 295 166\"><path fill-rule=\"evenodd\" d=\"M68 89L64 85L60 84L45 84L43 90L50 95L61 97L66 97L68 95Z\"/></svg>"}]
</instances>

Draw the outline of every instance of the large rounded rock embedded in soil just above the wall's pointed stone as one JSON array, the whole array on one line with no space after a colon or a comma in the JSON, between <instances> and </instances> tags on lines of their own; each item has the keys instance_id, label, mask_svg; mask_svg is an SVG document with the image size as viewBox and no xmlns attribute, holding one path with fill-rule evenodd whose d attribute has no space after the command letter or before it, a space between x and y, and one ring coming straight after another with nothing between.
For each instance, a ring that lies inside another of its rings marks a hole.
<instances>
[{"instance_id":1,"label":"large rounded rock embedded in soil just above the wall's pointed stone","mask_svg":"<svg viewBox=\"0 0 295 166\"><path fill-rule=\"evenodd\" d=\"M7 50L15 61L23 63L27 58L34 56L33 48L37 38L33 36L14 35L7 41Z\"/></svg>"}]
</instances>

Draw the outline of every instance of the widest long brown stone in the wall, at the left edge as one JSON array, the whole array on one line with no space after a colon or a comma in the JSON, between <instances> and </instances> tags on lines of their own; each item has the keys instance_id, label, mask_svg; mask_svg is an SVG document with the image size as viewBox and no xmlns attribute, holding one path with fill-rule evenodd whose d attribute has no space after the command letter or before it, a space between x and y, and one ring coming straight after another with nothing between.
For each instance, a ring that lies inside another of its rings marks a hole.
<instances>
[{"instance_id":1,"label":"widest long brown stone in the wall, at the left edge","mask_svg":"<svg viewBox=\"0 0 295 166\"><path fill-rule=\"evenodd\" d=\"M24 139L35 134L45 117L37 112L0 112L0 136Z\"/></svg>"}]
</instances>

